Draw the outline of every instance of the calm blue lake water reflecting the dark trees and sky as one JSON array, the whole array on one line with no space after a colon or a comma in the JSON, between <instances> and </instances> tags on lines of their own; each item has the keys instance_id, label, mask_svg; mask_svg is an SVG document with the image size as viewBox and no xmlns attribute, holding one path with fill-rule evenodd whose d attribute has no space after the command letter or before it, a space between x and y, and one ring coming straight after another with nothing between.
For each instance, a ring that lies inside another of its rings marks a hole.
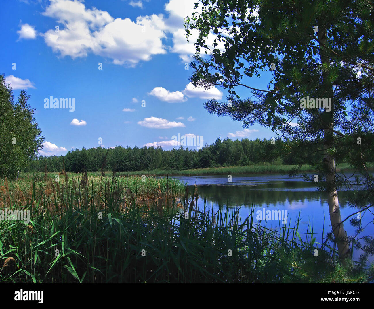
<instances>
[{"instance_id":1,"label":"calm blue lake water reflecting the dark trees and sky","mask_svg":"<svg viewBox=\"0 0 374 309\"><path fill-rule=\"evenodd\" d=\"M233 175L232 182L228 182L227 175L204 176L176 176L188 185L196 184L199 190L199 209L201 210L206 200L207 208L217 211L218 205L228 206L232 211L240 207L239 213L244 220L254 207L254 222L256 211L287 210L288 222L291 227L297 221L300 212L299 230L301 237L307 232L309 224L313 227L316 242L322 241L322 229L324 234L331 231L330 216L326 193L317 190L312 182L304 181L301 177L289 178L281 174L264 175ZM191 190L190 190L191 191ZM347 191L339 191L339 205L341 218L345 219L357 211L347 205ZM373 219L371 213L362 216L363 226L367 225L361 235L373 235L374 227L370 223ZM282 226L281 221L262 221L261 225L276 228ZM288 223L287 223L288 225ZM344 222L344 229L348 236L355 235L355 228ZM360 252L354 249L353 258L358 259ZM373 258L370 258L373 261Z\"/></svg>"}]
</instances>

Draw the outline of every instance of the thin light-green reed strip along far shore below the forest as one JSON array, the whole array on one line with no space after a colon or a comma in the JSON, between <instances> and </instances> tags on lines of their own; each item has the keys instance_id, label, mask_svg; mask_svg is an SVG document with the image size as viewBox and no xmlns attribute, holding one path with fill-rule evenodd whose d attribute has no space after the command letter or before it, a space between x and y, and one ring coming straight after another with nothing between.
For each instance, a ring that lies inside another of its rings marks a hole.
<instances>
[{"instance_id":1,"label":"thin light-green reed strip along far shore below the forest","mask_svg":"<svg viewBox=\"0 0 374 309\"><path fill-rule=\"evenodd\" d=\"M294 169L295 165L275 165L270 163L263 163L263 164L255 164L255 165L247 165L247 166L223 166L223 167L216 167L216 168L193 168L178 171L175 169L169 170L151 170L151 171L131 171L131 172L117 172L117 175L120 176L141 176L145 175L147 177L151 176L202 176L202 175L243 175L243 174L288 174L289 172ZM369 168L369 170L373 171L373 168ZM311 165L303 165L298 170L300 173L303 172L313 172L315 169ZM347 163L341 163L337 165L337 172L346 172L346 171L353 171L353 169ZM55 172L48 172L49 175L56 175ZM69 173L73 175L77 175L79 173ZM104 174L108 177L113 174L113 172L106 171ZM19 178L33 178L33 175L36 176L36 179L42 179L45 175L43 172L21 172L19 174ZM90 176L100 176L101 172L88 172ZM53 176L54 178L54 176Z\"/></svg>"}]
</instances>

